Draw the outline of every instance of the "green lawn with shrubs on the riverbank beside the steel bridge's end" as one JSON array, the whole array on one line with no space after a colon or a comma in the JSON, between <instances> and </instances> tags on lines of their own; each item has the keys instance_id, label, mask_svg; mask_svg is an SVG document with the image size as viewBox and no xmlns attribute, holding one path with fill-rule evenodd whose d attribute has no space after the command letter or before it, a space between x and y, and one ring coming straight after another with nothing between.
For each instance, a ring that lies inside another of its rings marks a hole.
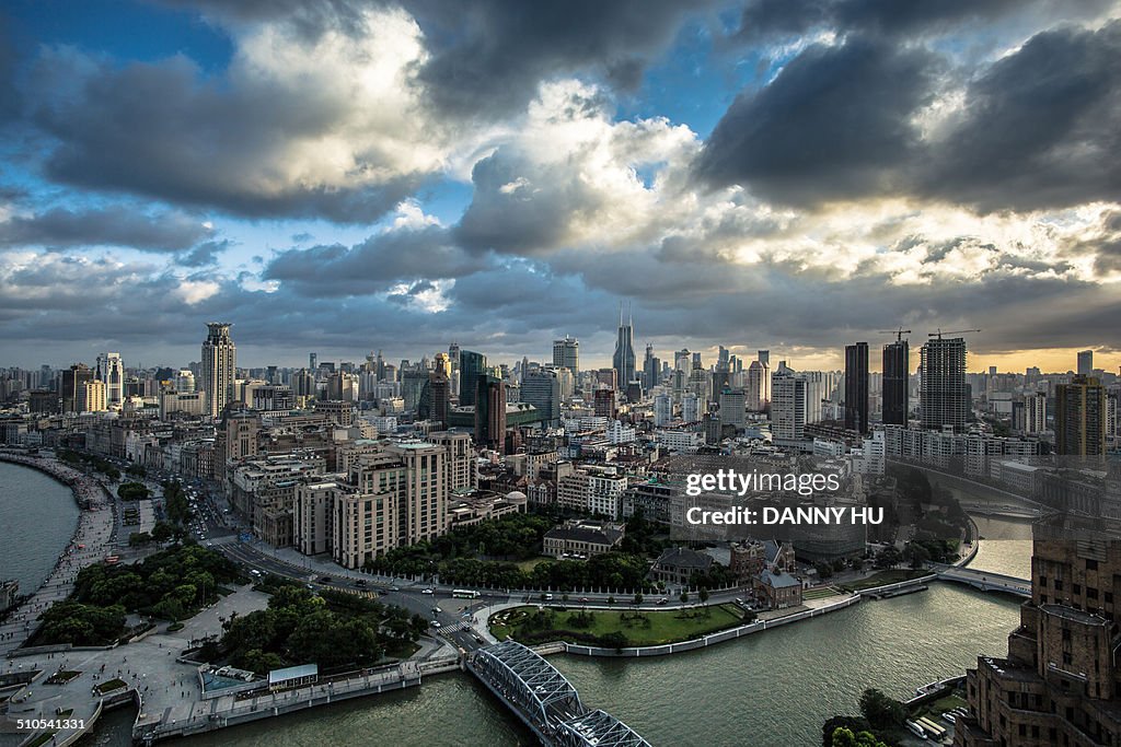
<instances>
[{"instance_id":1,"label":"green lawn with shrubs on the riverbank beside the steel bridge's end","mask_svg":"<svg viewBox=\"0 0 1121 747\"><path fill-rule=\"evenodd\" d=\"M518 623L527 613L536 609L536 607L517 607L498 613L491 618L491 633L499 639L509 637L516 633ZM643 611L639 618L632 618L634 615L632 610L593 610L591 627L572 625L572 617L581 611L580 609L555 611L553 629L578 631L596 636L618 632L627 636L629 646L657 646L689 641L742 624L741 614L734 605ZM624 616L627 619L623 619Z\"/></svg>"}]
</instances>

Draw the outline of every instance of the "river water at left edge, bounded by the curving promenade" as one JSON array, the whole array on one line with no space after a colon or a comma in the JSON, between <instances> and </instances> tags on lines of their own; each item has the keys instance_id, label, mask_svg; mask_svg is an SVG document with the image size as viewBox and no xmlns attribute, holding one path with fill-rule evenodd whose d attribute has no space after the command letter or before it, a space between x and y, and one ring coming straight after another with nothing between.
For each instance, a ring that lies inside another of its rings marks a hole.
<instances>
[{"instance_id":1,"label":"river water at left edge, bounded by the curving promenade","mask_svg":"<svg viewBox=\"0 0 1121 747\"><path fill-rule=\"evenodd\" d=\"M70 487L30 467L0 461L0 579L31 594L47 579L77 527Z\"/></svg>"}]
</instances>

